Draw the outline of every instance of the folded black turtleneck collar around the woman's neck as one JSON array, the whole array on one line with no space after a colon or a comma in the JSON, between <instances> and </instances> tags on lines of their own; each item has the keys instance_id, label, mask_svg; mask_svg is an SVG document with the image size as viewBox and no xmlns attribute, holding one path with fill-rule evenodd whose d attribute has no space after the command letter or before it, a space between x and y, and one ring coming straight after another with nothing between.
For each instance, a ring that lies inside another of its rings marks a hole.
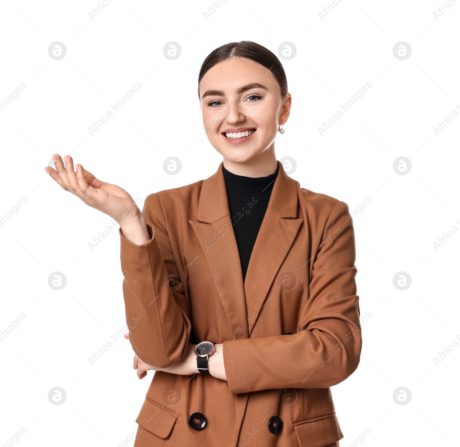
<instances>
[{"instance_id":1,"label":"folded black turtleneck collar around the woman's neck","mask_svg":"<svg viewBox=\"0 0 460 447\"><path fill-rule=\"evenodd\" d=\"M265 177L246 177L233 174L222 165L227 197L232 200L242 201L251 200L253 197L257 197L260 201L270 200L271 190L279 170L280 166L277 164L276 171L273 174Z\"/></svg>"}]
</instances>

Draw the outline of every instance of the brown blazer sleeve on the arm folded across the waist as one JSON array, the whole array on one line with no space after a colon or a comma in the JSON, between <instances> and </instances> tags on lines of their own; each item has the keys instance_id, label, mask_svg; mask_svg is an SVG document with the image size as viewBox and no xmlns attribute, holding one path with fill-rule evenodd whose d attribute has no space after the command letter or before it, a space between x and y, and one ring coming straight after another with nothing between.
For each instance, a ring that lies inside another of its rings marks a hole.
<instances>
[{"instance_id":1,"label":"brown blazer sleeve on the arm folded across the waist","mask_svg":"<svg viewBox=\"0 0 460 447\"><path fill-rule=\"evenodd\" d=\"M313 263L309 298L293 335L224 343L232 394L281 388L327 388L354 372L361 354L355 236L345 202L328 217Z\"/></svg>"}]
</instances>

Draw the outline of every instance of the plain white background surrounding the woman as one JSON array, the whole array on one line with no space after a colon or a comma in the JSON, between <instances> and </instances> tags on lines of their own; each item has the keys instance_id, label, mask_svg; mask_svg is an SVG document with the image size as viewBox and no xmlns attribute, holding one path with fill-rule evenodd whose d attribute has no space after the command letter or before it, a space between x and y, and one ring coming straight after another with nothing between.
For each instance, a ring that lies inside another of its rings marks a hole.
<instances>
[{"instance_id":1,"label":"plain white background surrounding the woman","mask_svg":"<svg viewBox=\"0 0 460 447\"><path fill-rule=\"evenodd\" d=\"M0 3L0 101L27 84L0 112L0 216L26 199L0 226L0 332L27 315L0 342L0 445L21 427L12 442L23 446L132 442L151 375L138 380L125 339L88 360L126 324L118 227L44 167L53 153L69 154L140 207L152 192L209 177L221 156L202 128L197 74L214 48L240 40L276 54L285 41L297 48L281 59L293 101L276 139L277 158L297 163L291 176L351 212L371 199L354 228L361 315L372 316L362 324L357 371L332 388L340 445L458 445L460 234L438 250L433 243L460 228L460 117L433 128L460 107L460 2L436 20L441 0L343 0L321 20L326 0L227 0L206 20L211 0L113 0L91 20L97 3ZM61 60L48 55L54 41L67 48ZM176 60L163 55L169 41L182 48ZM399 41L412 48L406 60L393 55ZM136 82L135 97L91 135ZM321 135L323 121L366 82L364 98ZM171 156L182 163L177 175L162 168ZM411 161L408 174L393 170L398 157ZM107 226L115 231L91 250ZM67 278L62 290L48 285L56 271ZM412 278L407 290L393 285L401 271ZM67 393L63 405L48 401L56 386ZM399 387L412 393L407 405L393 400Z\"/></svg>"}]
</instances>

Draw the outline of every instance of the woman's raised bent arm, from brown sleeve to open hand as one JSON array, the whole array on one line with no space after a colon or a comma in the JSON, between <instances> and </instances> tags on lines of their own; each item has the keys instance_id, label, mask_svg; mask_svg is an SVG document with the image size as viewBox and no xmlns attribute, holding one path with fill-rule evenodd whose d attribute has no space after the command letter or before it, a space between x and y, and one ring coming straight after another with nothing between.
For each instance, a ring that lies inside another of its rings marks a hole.
<instances>
[{"instance_id":1,"label":"woman's raised bent arm, from brown sleeve to open hand","mask_svg":"<svg viewBox=\"0 0 460 447\"><path fill-rule=\"evenodd\" d=\"M170 287L171 278L179 275L158 197L150 194L141 213L127 191L98 180L81 164L74 170L72 157L64 158L65 166L61 156L53 154L56 169L46 167L46 173L120 224L123 295L134 352L147 364L177 363L185 354L191 325L184 284L173 291Z\"/></svg>"}]
</instances>

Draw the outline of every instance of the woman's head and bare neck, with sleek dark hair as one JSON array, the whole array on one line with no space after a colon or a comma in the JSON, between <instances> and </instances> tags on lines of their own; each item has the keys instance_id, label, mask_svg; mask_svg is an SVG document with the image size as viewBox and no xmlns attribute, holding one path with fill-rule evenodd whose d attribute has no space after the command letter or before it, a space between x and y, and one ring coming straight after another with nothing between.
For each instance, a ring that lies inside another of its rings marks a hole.
<instances>
[{"instance_id":1,"label":"woman's head and bare neck, with sleek dark hair","mask_svg":"<svg viewBox=\"0 0 460 447\"><path fill-rule=\"evenodd\" d=\"M273 173L276 130L291 109L278 58L253 42L221 46L201 66L198 97L207 138L224 156L225 168L249 177Z\"/></svg>"}]
</instances>

